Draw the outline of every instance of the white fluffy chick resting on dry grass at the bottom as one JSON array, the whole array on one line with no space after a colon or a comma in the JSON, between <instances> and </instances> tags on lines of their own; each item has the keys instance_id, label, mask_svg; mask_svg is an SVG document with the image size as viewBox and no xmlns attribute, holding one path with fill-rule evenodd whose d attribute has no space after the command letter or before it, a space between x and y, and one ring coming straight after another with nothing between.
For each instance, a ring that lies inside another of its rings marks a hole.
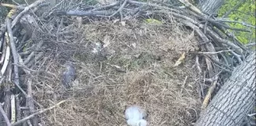
<instances>
[{"instance_id":1,"label":"white fluffy chick resting on dry grass at the bottom","mask_svg":"<svg viewBox=\"0 0 256 126\"><path fill-rule=\"evenodd\" d=\"M147 121L144 120L146 117L145 110L137 107L130 106L126 109L126 120L127 124L130 126L146 126Z\"/></svg>"}]
</instances>

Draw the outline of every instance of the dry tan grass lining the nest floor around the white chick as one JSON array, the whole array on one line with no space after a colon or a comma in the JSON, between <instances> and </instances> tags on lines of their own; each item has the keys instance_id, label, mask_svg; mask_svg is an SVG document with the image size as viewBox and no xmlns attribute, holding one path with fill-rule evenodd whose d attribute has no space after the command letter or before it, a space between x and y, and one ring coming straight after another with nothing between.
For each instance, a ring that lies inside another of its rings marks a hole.
<instances>
[{"instance_id":1,"label":"dry tan grass lining the nest floor around the white chick","mask_svg":"<svg viewBox=\"0 0 256 126\"><path fill-rule=\"evenodd\" d=\"M74 26L75 27L75 26ZM71 54L76 61L77 80L69 91L63 89L63 71L58 60L48 61L47 71L54 76L36 78L36 100L44 107L63 99L68 102L42 116L47 125L115 126L126 125L126 106L139 105L148 111L149 125L191 125L198 116L201 100L197 93L197 74L193 58L173 67L183 52L197 50L192 31L172 22L164 25L145 24L137 20L125 26L112 22L93 22L78 28ZM82 31L82 32L81 32ZM107 60L89 58L88 42L104 41L110 36ZM118 72L110 65L119 65ZM184 89L183 83L187 76Z\"/></svg>"}]
</instances>

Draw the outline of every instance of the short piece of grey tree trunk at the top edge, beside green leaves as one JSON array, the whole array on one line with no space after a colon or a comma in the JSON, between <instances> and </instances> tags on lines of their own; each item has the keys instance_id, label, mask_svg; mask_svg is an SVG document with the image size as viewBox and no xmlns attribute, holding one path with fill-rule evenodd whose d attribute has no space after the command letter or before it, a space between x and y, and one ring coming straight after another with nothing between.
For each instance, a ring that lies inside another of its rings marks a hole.
<instances>
[{"instance_id":1,"label":"short piece of grey tree trunk at the top edge, beside green leaves","mask_svg":"<svg viewBox=\"0 0 256 126\"><path fill-rule=\"evenodd\" d=\"M216 13L224 0L198 0L198 8L204 13Z\"/></svg>"}]
</instances>

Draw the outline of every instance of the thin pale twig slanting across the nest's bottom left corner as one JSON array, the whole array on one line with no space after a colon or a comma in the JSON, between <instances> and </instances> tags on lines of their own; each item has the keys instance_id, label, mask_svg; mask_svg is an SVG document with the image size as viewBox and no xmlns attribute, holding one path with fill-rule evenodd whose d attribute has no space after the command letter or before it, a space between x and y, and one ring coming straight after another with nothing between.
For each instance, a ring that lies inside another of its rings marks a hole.
<instances>
[{"instance_id":1,"label":"thin pale twig slanting across the nest's bottom left corner","mask_svg":"<svg viewBox=\"0 0 256 126\"><path fill-rule=\"evenodd\" d=\"M39 114L41 114L41 113L44 113L44 112L46 112L47 110L54 109L56 106L59 106L59 105L61 105L61 104L64 103L64 102L66 102L66 100L63 100L63 101L61 101L61 102L58 102L55 106L51 106L51 107L48 108L48 109L43 109L43 110L40 110L40 111L37 112L37 113L33 113L32 115L30 115L30 116L28 116L28 117L24 117L23 119L18 120L16 123L12 124L12 126L21 124L21 123L23 123L23 122L26 121L26 120L30 120L32 117L35 117L35 116L37 116L37 115L39 115Z\"/></svg>"}]
</instances>

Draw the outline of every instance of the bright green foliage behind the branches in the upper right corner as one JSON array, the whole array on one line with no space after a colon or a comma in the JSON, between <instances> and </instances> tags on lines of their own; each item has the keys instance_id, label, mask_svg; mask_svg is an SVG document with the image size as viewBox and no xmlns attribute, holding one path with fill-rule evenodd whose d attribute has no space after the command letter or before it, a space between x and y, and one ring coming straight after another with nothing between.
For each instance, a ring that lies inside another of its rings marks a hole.
<instances>
[{"instance_id":1,"label":"bright green foliage behind the branches in the upper right corner","mask_svg":"<svg viewBox=\"0 0 256 126\"><path fill-rule=\"evenodd\" d=\"M226 0L224 5L220 8L219 15L220 17L224 16L230 9L233 9L234 6L239 4L240 1ZM239 22L244 22L246 24L255 26L255 1L254 0L246 0L242 2L236 9L232 10L232 12L228 15L228 20L234 20ZM229 24L233 28L244 28L248 29L248 27L243 24L238 23L230 23ZM243 44L247 44L255 41L255 29L250 28L251 33L243 32L243 31L234 31L235 36L239 39Z\"/></svg>"}]
</instances>

